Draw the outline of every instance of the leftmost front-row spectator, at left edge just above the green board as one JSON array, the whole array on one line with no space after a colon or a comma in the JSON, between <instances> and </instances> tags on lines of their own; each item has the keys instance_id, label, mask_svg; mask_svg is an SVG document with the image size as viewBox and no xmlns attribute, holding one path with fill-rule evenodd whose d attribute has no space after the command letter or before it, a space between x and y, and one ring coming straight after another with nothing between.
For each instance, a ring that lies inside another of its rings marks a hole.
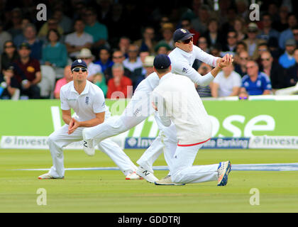
<instances>
[{"instance_id":1,"label":"leftmost front-row spectator, at left edge just above the green board","mask_svg":"<svg viewBox=\"0 0 298 227\"><path fill-rule=\"evenodd\" d=\"M21 84L14 76L13 66L4 68L0 73L0 99L11 99L11 97L16 96L19 89L21 89Z\"/></svg>"}]
</instances>

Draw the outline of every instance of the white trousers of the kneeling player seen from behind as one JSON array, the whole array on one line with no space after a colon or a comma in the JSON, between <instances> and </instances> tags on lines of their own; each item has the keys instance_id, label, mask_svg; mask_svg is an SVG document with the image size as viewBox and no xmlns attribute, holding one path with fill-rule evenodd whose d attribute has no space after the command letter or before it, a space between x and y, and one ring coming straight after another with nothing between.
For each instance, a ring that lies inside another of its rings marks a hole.
<instances>
[{"instance_id":1,"label":"white trousers of the kneeling player seen from behind","mask_svg":"<svg viewBox=\"0 0 298 227\"><path fill-rule=\"evenodd\" d=\"M217 169L219 164L193 165L197 152L202 146L203 144L187 147L177 146L170 166L172 182L191 184L218 179Z\"/></svg>"}]
</instances>

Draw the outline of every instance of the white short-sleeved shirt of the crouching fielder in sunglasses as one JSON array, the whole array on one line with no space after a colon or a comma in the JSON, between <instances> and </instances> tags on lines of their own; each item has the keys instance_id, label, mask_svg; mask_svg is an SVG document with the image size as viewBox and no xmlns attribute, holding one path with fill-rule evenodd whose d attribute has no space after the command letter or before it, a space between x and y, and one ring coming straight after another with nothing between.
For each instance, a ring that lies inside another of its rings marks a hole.
<instances>
[{"instance_id":1,"label":"white short-sleeved shirt of the crouching fielder in sunglasses","mask_svg":"<svg viewBox=\"0 0 298 227\"><path fill-rule=\"evenodd\" d=\"M78 121L89 121L95 118L95 114L106 112L105 118L111 116L104 99L104 92L87 80L84 91L79 94L71 81L60 89L61 109L75 111Z\"/></svg>"}]
</instances>

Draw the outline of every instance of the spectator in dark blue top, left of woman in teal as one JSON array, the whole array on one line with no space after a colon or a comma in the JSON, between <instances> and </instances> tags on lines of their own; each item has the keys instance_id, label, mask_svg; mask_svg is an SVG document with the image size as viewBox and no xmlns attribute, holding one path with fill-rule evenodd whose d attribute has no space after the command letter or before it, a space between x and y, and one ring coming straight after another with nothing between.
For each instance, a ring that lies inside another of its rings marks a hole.
<instances>
[{"instance_id":1,"label":"spectator in dark blue top, left of woman in teal","mask_svg":"<svg viewBox=\"0 0 298 227\"><path fill-rule=\"evenodd\" d=\"M33 23L29 23L23 30L24 40L18 40L21 43L28 43L31 49L30 57L41 60L43 52L43 40L36 36L36 28ZM15 43L18 48L21 43Z\"/></svg>"}]
</instances>

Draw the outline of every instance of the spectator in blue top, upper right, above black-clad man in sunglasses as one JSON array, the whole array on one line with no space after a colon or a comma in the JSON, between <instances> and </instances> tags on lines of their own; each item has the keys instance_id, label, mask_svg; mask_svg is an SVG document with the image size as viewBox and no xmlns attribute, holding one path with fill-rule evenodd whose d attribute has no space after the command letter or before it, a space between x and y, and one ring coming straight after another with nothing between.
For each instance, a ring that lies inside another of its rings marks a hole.
<instances>
[{"instance_id":1,"label":"spectator in blue top, upper right, above black-clad man in sunglasses","mask_svg":"<svg viewBox=\"0 0 298 227\"><path fill-rule=\"evenodd\" d=\"M272 18L269 13L264 13L262 16L262 30L258 34L257 38L268 41L270 38L280 38L280 33L272 28Z\"/></svg>"}]
</instances>

